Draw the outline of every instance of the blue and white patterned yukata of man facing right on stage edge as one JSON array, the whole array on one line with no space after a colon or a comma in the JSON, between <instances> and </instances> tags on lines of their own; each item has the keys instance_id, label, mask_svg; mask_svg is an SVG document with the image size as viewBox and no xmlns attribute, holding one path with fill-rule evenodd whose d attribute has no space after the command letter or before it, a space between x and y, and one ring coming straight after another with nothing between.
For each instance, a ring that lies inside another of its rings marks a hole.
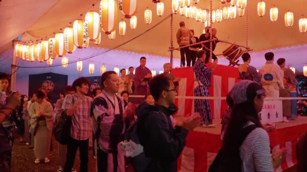
<instances>
[{"instance_id":1,"label":"blue and white patterned yukata of man facing right on stage edge","mask_svg":"<svg viewBox=\"0 0 307 172\"><path fill-rule=\"evenodd\" d=\"M197 60L194 64L194 96L209 97L209 87L211 86L211 76L213 70L208 68L203 61ZM195 99L194 111L202 117L202 124L212 124L210 102L208 99Z\"/></svg>"}]
</instances>

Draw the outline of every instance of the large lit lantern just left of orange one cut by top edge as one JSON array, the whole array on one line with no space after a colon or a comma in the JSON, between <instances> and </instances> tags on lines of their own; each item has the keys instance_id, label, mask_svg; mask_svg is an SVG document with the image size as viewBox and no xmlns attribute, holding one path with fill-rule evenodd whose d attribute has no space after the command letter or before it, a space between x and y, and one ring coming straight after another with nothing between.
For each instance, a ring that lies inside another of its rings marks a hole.
<instances>
[{"instance_id":1,"label":"large lit lantern just left of orange one cut by top edge","mask_svg":"<svg viewBox=\"0 0 307 172\"><path fill-rule=\"evenodd\" d=\"M106 34L116 30L117 4L114 0L101 0L100 2L101 26Z\"/></svg>"}]
</instances>

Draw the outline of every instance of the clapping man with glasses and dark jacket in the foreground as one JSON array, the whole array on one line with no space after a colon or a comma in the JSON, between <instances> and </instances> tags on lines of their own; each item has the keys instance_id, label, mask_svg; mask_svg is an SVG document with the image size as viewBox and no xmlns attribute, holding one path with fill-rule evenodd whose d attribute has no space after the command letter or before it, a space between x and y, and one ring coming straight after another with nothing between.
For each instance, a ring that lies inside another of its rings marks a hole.
<instances>
[{"instance_id":1,"label":"clapping man with glasses and dark jacket in the foreground","mask_svg":"<svg viewBox=\"0 0 307 172\"><path fill-rule=\"evenodd\" d=\"M172 115L178 108L174 105L176 89L165 75L158 75L149 81L149 90L156 105L141 104L136 114L137 136L149 162L144 171L177 171L177 158L185 146L188 130L199 125L201 117L193 114L177 124Z\"/></svg>"}]
</instances>

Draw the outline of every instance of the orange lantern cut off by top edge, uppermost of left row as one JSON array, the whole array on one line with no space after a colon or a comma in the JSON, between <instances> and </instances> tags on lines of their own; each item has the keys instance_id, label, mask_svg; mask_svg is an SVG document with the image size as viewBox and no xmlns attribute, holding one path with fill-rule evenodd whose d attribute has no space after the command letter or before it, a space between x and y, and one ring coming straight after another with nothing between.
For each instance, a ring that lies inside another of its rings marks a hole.
<instances>
[{"instance_id":1,"label":"orange lantern cut off by top edge, uppermost of left row","mask_svg":"<svg viewBox=\"0 0 307 172\"><path fill-rule=\"evenodd\" d=\"M118 6L122 15L130 19L136 14L137 0L119 0Z\"/></svg>"}]
</instances>

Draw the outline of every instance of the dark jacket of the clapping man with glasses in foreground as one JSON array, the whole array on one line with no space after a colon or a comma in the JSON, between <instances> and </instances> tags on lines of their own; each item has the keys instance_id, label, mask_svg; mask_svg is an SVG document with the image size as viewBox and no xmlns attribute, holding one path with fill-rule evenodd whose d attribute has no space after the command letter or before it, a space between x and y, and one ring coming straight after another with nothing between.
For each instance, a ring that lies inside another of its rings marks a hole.
<instances>
[{"instance_id":1,"label":"dark jacket of the clapping man with glasses in foreground","mask_svg":"<svg viewBox=\"0 0 307 172\"><path fill-rule=\"evenodd\" d=\"M170 116L177 110L174 105L166 108L141 104L137 108L137 135L145 156L151 158L145 171L177 171L177 158L188 133L181 127L173 128Z\"/></svg>"}]
</instances>

